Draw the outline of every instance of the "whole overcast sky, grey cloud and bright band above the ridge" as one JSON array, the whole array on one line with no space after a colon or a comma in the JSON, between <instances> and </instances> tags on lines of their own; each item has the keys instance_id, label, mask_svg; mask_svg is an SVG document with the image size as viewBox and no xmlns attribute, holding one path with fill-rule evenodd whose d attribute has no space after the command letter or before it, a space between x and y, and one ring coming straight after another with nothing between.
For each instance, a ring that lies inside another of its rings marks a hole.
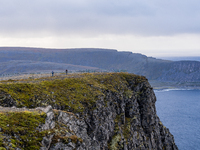
<instances>
[{"instance_id":1,"label":"whole overcast sky, grey cloud and bright band above the ridge","mask_svg":"<svg viewBox=\"0 0 200 150\"><path fill-rule=\"evenodd\" d=\"M0 0L0 46L200 56L200 1Z\"/></svg>"}]
</instances>

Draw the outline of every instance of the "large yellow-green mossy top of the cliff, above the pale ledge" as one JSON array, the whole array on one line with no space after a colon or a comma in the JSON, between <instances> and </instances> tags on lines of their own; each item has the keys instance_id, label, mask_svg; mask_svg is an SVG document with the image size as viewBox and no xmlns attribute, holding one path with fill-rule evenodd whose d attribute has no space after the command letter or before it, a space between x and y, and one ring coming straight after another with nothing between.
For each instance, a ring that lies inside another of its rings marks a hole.
<instances>
[{"instance_id":1,"label":"large yellow-green mossy top of the cliff, above the pale ledge","mask_svg":"<svg viewBox=\"0 0 200 150\"><path fill-rule=\"evenodd\" d=\"M83 112L95 108L95 102L105 96L105 91L124 93L131 98L129 82L145 78L128 73L82 74L70 78L42 78L0 84L0 91L11 95L17 107L62 106L66 111ZM139 80L139 81L138 81ZM123 98L123 97L121 97Z\"/></svg>"}]
</instances>

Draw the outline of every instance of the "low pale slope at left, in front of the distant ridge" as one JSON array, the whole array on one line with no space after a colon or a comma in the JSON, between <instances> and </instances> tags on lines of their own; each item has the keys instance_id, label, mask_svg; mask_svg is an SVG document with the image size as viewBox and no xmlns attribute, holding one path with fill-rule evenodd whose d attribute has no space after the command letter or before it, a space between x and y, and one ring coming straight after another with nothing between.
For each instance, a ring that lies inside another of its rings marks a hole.
<instances>
[{"instance_id":1,"label":"low pale slope at left, in front of the distant ridge","mask_svg":"<svg viewBox=\"0 0 200 150\"><path fill-rule=\"evenodd\" d=\"M65 72L65 70L98 70L99 68L81 65L72 65L56 62L41 62L29 60L11 60L0 63L0 74L23 74L23 73L51 73Z\"/></svg>"}]
</instances>

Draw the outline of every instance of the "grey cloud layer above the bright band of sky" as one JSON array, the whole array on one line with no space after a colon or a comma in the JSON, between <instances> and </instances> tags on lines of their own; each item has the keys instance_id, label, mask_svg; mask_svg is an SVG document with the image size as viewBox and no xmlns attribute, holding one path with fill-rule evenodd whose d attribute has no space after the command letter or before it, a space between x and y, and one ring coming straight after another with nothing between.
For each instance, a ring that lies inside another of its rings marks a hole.
<instances>
[{"instance_id":1,"label":"grey cloud layer above the bright band of sky","mask_svg":"<svg viewBox=\"0 0 200 150\"><path fill-rule=\"evenodd\" d=\"M0 0L0 33L171 35L200 32L198 0Z\"/></svg>"}]
</instances>

